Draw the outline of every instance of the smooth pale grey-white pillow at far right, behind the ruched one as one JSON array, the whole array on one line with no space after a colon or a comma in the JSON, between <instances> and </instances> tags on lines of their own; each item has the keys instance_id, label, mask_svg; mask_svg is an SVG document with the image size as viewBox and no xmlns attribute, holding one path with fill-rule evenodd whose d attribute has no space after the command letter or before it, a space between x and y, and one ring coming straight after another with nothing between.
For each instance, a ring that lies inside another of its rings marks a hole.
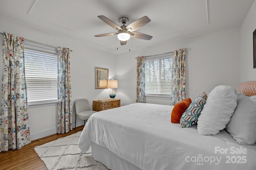
<instances>
[{"instance_id":1,"label":"smooth pale grey-white pillow at far right, behind the ruched one","mask_svg":"<svg viewBox=\"0 0 256 170\"><path fill-rule=\"evenodd\" d=\"M226 130L238 143L256 143L256 96L238 94L237 107Z\"/></svg>"}]
</instances>

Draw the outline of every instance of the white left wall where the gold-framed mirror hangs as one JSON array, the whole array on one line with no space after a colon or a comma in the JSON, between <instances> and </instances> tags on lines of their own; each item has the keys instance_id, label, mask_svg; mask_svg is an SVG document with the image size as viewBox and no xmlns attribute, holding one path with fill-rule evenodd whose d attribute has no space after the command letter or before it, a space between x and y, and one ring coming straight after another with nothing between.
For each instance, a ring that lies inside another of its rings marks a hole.
<instances>
[{"instance_id":1,"label":"white left wall where the gold-framed mirror hangs","mask_svg":"<svg viewBox=\"0 0 256 170\"><path fill-rule=\"evenodd\" d=\"M108 68L109 77L115 79L115 55L88 47L82 41L48 33L5 18L0 17L0 23L0 32L6 31L32 41L74 50L70 53L73 102L76 99L87 98L92 106L93 100L108 98L110 89L95 89L95 67ZM0 41L2 42L2 35L0 35ZM2 45L0 46L0 61L2 61ZM0 64L0 75L2 77L2 64ZM29 108L28 114L32 140L57 133L56 105ZM77 126L83 123L83 120L77 119ZM75 112L73 112L73 127L74 125Z\"/></svg>"}]
</instances>

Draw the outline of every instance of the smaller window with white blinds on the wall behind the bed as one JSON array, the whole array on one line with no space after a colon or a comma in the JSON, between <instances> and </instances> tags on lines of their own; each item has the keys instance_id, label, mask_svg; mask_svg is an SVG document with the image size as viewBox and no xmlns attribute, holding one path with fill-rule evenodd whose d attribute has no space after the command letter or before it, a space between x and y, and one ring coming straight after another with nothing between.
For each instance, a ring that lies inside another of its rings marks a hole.
<instances>
[{"instance_id":1,"label":"smaller window with white blinds on the wall behind the bed","mask_svg":"<svg viewBox=\"0 0 256 170\"><path fill-rule=\"evenodd\" d=\"M146 96L170 97L172 93L172 56L170 54L146 57Z\"/></svg>"}]
</instances>

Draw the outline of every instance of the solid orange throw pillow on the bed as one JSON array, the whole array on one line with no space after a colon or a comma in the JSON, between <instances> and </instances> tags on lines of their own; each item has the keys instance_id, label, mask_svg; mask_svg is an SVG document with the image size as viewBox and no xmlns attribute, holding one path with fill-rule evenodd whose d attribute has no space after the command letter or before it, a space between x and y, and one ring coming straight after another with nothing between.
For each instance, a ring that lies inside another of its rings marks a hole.
<instances>
[{"instance_id":1,"label":"solid orange throw pillow on the bed","mask_svg":"<svg viewBox=\"0 0 256 170\"><path fill-rule=\"evenodd\" d=\"M191 104L191 99L187 98L184 99L180 102L178 102L172 109L172 114L171 114L171 122L172 123L180 123L180 117L186 111L188 106Z\"/></svg>"}]
</instances>

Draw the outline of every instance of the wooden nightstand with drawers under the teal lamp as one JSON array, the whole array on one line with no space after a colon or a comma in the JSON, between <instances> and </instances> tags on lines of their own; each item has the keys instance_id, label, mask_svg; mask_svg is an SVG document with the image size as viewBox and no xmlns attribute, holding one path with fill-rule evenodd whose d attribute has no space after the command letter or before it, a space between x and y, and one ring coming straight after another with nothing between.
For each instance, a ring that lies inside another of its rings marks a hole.
<instances>
[{"instance_id":1,"label":"wooden nightstand with drawers under the teal lamp","mask_svg":"<svg viewBox=\"0 0 256 170\"><path fill-rule=\"evenodd\" d=\"M121 105L120 99L94 100L92 103L92 110L102 111L102 110L106 110L106 109L120 107L120 105Z\"/></svg>"}]
</instances>

